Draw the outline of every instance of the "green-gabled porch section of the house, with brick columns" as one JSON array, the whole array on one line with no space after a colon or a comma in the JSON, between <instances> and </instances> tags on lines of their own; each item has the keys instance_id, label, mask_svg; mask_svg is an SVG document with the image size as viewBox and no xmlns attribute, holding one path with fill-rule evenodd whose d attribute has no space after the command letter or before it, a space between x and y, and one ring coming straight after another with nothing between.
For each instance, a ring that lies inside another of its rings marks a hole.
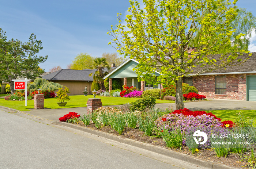
<instances>
[{"instance_id":1,"label":"green-gabled porch section of the house, with brick columns","mask_svg":"<svg viewBox=\"0 0 256 169\"><path fill-rule=\"evenodd\" d=\"M121 78L123 81L123 85L127 85L128 87L133 86L139 88L140 91L153 88L160 88L160 84L153 86L147 84L147 82L138 81L138 76L136 72L133 71L133 68L135 68L138 64L139 62L135 59L128 59L127 61L123 62L120 66L118 66L116 69L114 69L112 72L110 72L108 75L106 75L103 79L109 79L109 91L112 90L113 78ZM155 72L155 75L159 76L160 74L158 72Z\"/></svg>"}]
</instances>

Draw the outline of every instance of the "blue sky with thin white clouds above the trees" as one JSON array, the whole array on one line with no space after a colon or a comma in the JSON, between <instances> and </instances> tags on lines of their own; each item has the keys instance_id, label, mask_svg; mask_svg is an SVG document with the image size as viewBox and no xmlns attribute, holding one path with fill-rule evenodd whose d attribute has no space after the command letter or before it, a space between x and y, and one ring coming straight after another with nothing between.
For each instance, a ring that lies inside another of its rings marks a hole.
<instances>
[{"instance_id":1,"label":"blue sky with thin white clouds above the trees","mask_svg":"<svg viewBox=\"0 0 256 169\"><path fill-rule=\"evenodd\" d=\"M22 42L34 33L44 47L38 55L48 55L39 66L65 69L79 53L116 52L106 33L117 24L116 14L125 16L129 6L129 0L0 0L0 27L8 39ZM238 0L237 6L256 16L255 0ZM255 34L249 49L256 51Z\"/></svg>"}]
</instances>

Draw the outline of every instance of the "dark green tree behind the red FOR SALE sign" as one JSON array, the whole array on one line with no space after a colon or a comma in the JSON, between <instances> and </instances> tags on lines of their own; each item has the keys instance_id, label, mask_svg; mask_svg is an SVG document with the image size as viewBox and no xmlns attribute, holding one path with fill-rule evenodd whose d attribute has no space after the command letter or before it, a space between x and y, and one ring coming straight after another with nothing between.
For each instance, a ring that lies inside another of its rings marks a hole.
<instances>
[{"instance_id":1,"label":"dark green tree behind the red FOR SALE sign","mask_svg":"<svg viewBox=\"0 0 256 169\"><path fill-rule=\"evenodd\" d=\"M42 42L34 34L30 35L28 42L18 39L7 41L5 32L0 28L0 80L9 82L11 93L14 93L13 79L18 76L34 79L44 73L38 69L38 64L45 62L48 56L35 55L42 49Z\"/></svg>"}]
</instances>

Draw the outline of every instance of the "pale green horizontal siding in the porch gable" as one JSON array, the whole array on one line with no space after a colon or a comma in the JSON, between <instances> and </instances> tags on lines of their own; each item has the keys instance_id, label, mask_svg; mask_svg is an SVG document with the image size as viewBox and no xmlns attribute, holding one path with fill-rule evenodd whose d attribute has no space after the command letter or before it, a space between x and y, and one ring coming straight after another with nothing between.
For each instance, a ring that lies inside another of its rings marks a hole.
<instances>
[{"instance_id":1,"label":"pale green horizontal siding in the porch gable","mask_svg":"<svg viewBox=\"0 0 256 169\"><path fill-rule=\"evenodd\" d=\"M137 77L137 74L132 69L135 68L138 63L130 60L127 64L123 65L116 72L111 74L108 78L124 78L124 77ZM156 76L159 76L158 73L155 73Z\"/></svg>"}]
</instances>

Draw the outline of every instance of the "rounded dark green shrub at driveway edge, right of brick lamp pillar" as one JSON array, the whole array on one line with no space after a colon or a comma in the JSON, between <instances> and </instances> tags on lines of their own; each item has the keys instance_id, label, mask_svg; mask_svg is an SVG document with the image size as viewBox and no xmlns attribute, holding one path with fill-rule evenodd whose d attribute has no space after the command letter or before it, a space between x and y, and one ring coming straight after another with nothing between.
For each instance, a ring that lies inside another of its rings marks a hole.
<instances>
[{"instance_id":1,"label":"rounded dark green shrub at driveway edge, right of brick lamp pillar","mask_svg":"<svg viewBox=\"0 0 256 169\"><path fill-rule=\"evenodd\" d=\"M130 106L131 111L139 110L139 111L147 111L155 106L155 98L151 96L143 97L142 99L138 99L135 102L132 102Z\"/></svg>"}]
</instances>

